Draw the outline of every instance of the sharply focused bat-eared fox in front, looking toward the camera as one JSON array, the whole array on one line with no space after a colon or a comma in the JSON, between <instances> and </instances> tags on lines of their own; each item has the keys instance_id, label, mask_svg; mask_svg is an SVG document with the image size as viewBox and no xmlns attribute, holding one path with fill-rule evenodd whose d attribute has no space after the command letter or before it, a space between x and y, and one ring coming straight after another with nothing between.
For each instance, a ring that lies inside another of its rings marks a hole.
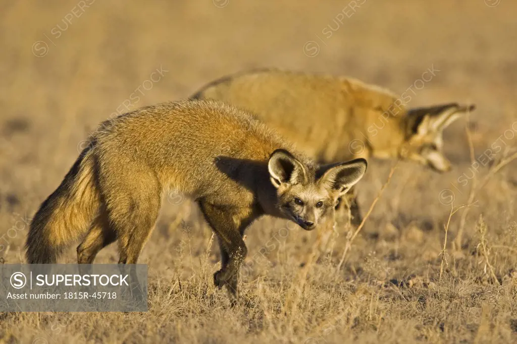
<instances>
[{"instance_id":1,"label":"sharply focused bat-eared fox in front, looking toward the camera","mask_svg":"<svg viewBox=\"0 0 517 344\"><path fill-rule=\"evenodd\" d=\"M136 263L173 189L199 204L217 234L214 283L233 295L247 255L242 236L256 218L306 230L333 223L338 198L367 168L364 159L317 165L247 112L215 101L140 108L101 123L90 142L34 215L28 263L55 263L80 238L79 263L115 240L119 263Z\"/></svg>"}]
</instances>

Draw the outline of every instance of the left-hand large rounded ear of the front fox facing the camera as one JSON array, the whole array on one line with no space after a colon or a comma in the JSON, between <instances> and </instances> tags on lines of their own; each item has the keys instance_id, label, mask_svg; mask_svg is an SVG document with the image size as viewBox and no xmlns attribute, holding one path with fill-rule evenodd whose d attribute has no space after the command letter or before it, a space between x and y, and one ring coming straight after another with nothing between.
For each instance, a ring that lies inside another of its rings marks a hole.
<instances>
[{"instance_id":1,"label":"left-hand large rounded ear of the front fox facing the camera","mask_svg":"<svg viewBox=\"0 0 517 344\"><path fill-rule=\"evenodd\" d=\"M271 183L275 187L281 184L298 184L307 182L307 170L293 154L285 149L277 149L271 153L267 164Z\"/></svg>"}]
</instances>

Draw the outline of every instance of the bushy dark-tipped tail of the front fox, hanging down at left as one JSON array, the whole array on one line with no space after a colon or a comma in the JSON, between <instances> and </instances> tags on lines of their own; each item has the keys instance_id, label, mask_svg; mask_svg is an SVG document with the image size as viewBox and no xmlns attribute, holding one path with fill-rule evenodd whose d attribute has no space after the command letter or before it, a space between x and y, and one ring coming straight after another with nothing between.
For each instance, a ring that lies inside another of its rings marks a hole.
<instances>
[{"instance_id":1,"label":"bushy dark-tipped tail of the front fox, hanging down at left","mask_svg":"<svg viewBox=\"0 0 517 344\"><path fill-rule=\"evenodd\" d=\"M87 231L99 208L94 155L87 147L34 215L25 243L27 262L55 263L63 249Z\"/></svg>"}]
</instances>

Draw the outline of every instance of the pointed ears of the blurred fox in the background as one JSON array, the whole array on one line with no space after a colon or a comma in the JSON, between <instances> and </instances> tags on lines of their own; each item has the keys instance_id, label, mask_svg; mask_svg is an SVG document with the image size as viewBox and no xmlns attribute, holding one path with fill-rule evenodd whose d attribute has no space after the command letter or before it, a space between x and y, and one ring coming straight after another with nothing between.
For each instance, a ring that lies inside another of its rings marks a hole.
<instances>
[{"instance_id":1,"label":"pointed ears of the blurred fox in the background","mask_svg":"<svg viewBox=\"0 0 517 344\"><path fill-rule=\"evenodd\" d=\"M464 114L474 111L475 105L450 103L409 110L408 119L414 123L413 132L420 135L443 131Z\"/></svg>"}]
</instances>

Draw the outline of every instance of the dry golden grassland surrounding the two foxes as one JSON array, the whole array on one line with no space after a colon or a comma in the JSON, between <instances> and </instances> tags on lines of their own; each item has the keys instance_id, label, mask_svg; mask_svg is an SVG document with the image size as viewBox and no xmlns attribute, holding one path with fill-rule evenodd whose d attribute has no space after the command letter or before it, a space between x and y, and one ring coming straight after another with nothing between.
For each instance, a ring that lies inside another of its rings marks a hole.
<instances>
[{"instance_id":1,"label":"dry golden grassland surrounding the two foxes","mask_svg":"<svg viewBox=\"0 0 517 344\"><path fill-rule=\"evenodd\" d=\"M517 342L515 13L511 0L3 1L5 263L25 262L26 223L88 134L126 112L135 92L130 110L279 67L397 94L413 87L410 106L477 109L445 131L453 169L398 163L353 241L338 224L323 252L317 231L255 222L246 233L252 268L240 277L252 304L232 308L214 286L217 241L197 206L172 193L139 259L148 264L147 312L4 312L0 343ZM432 80L418 83L432 68ZM495 145L489 161L483 153ZM369 161L358 183L363 213L393 165ZM73 245L62 262L76 261ZM115 244L96 259L117 261Z\"/></svg>"}]
</instances>

